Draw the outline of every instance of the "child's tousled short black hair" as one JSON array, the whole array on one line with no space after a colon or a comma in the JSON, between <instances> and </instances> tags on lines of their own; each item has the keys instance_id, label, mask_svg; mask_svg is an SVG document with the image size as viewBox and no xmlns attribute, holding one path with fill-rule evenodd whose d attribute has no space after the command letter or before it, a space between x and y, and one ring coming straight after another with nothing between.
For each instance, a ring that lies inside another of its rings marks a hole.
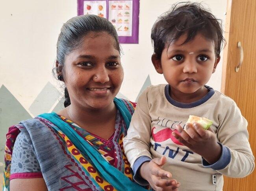
<instances>
[{"instance_id":1,"label":"child's tousled short black hair","mask_svg":"<svg viewBox=\"0 0 256 191\"><path fill-rule=\"evenodd\" d=\"M173 5L171 11L161 15L152 27L151 39L156 58L160 59L165 46L187 34L186 44L201 33L215 44L215 56L219 57L222 43L225 43L221 20L199 3L182 2Z\"/></svg>"}]
</instances>

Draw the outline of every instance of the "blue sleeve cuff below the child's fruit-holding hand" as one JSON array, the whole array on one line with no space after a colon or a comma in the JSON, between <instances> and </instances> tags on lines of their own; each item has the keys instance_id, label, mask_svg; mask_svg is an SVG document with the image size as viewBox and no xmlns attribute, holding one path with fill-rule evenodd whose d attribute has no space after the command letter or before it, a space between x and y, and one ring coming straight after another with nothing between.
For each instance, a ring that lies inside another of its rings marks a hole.
<instances>
[{"instance_id":1,"label":"blue sleeve cuff below the child's fruit-holding hand","mask_svg":"<svg viewBox=\"0 0 256 191\"><path fill-rule=\"evenodd\" d=\"M214 164L209 164L204 158L202 158L202 165L205 168L211 168L213 170L224 169L231 161L231 153L228 147L223 146L221 143L218 143L221 146L221 157Z\"/></svg>"}]
</instances>

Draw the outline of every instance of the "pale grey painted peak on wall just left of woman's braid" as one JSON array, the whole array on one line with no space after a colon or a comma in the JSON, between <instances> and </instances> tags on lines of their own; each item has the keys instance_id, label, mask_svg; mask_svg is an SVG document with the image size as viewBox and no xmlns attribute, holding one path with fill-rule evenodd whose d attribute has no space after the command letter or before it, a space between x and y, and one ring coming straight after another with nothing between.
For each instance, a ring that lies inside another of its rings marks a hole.
<instances>
[{"instance_id":1,"label":"pale grey painted peak on wall just left of woman's braid","mask_svg":"<svg viewBox=\"0 0 256 191\"><path fill-rule=\"evenodd\" d=\"M58 89L56 89L56 87L48 82L39 93L37 98L35 98L33 101L29 111L31 111L34 116L37 116L41 113L48 113L52 106L59 99L59 96L60 94Z\"/></svg>"}]
</instances>

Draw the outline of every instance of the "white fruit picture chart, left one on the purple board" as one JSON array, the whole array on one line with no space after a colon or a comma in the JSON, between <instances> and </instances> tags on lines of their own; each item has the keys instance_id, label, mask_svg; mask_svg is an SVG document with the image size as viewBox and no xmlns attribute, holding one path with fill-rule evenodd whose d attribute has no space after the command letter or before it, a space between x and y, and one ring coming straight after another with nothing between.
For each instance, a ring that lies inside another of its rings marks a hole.
<instances>
[{"instance_id":1,"label":"white fruit picture chart, left one on the purple board","mask_svg":"<svg viewBox=\"0 0 256 191\"><path fill-rule=\"evenodd\" d=\"M105 1L87 1L83 3L83 15L91 14L107 18Z\"/></svg>"}]
</instances>

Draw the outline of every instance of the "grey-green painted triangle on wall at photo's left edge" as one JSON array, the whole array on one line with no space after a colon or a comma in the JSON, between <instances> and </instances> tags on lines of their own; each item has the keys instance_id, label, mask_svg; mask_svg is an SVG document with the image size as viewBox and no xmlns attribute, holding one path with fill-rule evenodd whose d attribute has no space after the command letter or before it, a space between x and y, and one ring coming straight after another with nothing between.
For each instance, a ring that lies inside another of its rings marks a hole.
<instances>
[{"instance_id":1,"label":"grey-green painted triangle on wall at photo's left edge","mask_svg":"<svg viewBox=\"0 0 256 191\"><path fill-rule=\"evenodd\" d=\"M0 162L4 163L6 133L12 125L32 118L20 102L2 85L0 87ZM4 166L0 166L2 173Z\"/></svg>"}]
</instances>

